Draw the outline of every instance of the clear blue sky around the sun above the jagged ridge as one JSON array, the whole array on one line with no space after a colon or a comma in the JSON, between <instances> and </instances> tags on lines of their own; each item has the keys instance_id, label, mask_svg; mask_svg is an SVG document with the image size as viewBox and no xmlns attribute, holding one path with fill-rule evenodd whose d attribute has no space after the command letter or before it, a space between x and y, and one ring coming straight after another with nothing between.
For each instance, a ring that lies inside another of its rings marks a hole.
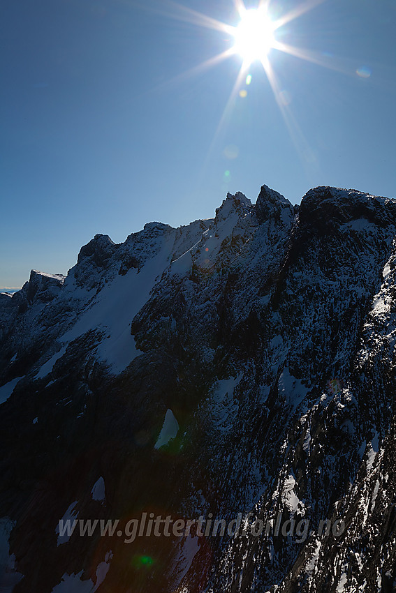
<instances>
[{"instance_id":1,"label":"clear blue sky around the sun above the jagged ridge","mask_svg":"<svg viewBox=\"0 0 396 593\"><path fill-rule=\"evenodd\" d=\"M265 68L232 50L201 68L235 44L219 22L241 0L1 3L1 289L66 273L98 232L214 216L228 191L395 197L396 0L268 15Z\"/></svg>"}]
</instances>

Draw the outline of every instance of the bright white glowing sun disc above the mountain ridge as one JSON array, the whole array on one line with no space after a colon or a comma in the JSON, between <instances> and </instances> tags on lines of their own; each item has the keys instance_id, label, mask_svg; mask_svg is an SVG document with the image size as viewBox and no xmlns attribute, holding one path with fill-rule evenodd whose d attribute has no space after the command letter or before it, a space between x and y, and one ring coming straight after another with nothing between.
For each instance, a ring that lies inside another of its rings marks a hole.
<instances>
[{"instance_id":1,"label":"bright white glowing sun disc above the mountain ridge","mask_svg":"<svg viewBox=\"0 0 396 593\"><path fill-rule=\"evenodd\" d=\"M240 54L244 62L262 61L274 47L274 30L274 23L266 10L245 10L233 33L233 50Z\"/></svg>"}]
</instances>

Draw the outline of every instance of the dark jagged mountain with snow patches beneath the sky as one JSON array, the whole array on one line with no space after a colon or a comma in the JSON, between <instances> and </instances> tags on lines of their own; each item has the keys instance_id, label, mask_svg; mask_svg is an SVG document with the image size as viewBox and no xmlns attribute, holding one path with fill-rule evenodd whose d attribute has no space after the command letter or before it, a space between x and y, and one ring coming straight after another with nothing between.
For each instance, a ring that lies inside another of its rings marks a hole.
<instances>
[{"instance_id":1,"label":"dark jagged mountain with snow patches beneath the sky","mask_svg":"<svg viewBox=\"0 0 396 593\"><path fill-rule=\"evenodd\" d=\"M395 237L395 200L263 186L0 295L0 588L394 591ZM235 523L57 532L144 513Z\"/></svg>"}]
</instances>

